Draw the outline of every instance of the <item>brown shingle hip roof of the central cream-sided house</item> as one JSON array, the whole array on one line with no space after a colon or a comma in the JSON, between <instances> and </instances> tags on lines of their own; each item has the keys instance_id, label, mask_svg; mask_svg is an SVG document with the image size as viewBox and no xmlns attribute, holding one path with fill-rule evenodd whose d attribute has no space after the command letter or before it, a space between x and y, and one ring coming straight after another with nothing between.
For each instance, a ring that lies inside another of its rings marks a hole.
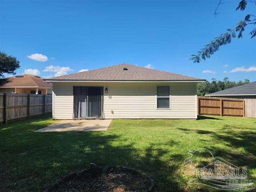
<instances>
[{"instance_id":1,"label":"brown shingle hip roof of the central cream-sided house","mask_svg":"<svg viewBox=\"0 0 256 192\"><path fill-rule=\"evenodd\" d=\"M124 70L127 68L127 70ZM110 67L89 70L85 72L64 75L46 79L48 81L204 81L203 79L144 68L130 64L120 64Z\"/></svg>"}]
</instances>

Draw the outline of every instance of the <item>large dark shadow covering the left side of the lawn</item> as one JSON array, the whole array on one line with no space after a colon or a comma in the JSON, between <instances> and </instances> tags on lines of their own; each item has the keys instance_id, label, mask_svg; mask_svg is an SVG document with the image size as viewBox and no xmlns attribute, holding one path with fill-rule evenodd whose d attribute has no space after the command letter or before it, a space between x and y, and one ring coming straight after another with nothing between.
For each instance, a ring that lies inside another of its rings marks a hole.
<instances>
[{"instance_id":1,"label":"large dark shadow covering the left side of the lawn","mask_svg":"<svg viewBox=\"0 0 256 192\"><path fill-rule=\"evenodd\" d=\"M51 122L36 118L0 130L1 190L44 191L66 174L88 168L90 163L148 172L156 180L158 191L177 191L180 182L186 182L177 172L177 164L163 160L168 150L161 144L140 151L132 141L111 132L34 132ZM170 156L172 161L177 159L182 161L184 157Z\"/></svg>"}]
</instances>

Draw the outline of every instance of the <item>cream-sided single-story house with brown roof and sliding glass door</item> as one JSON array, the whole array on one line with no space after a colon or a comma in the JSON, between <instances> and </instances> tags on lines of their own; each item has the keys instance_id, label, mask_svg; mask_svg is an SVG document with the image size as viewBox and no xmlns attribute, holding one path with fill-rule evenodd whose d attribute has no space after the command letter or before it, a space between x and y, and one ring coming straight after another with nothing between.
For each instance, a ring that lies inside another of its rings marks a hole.
<instances>
[{"instance_id":1,"label":"cream-sided single-story house with brown roof and sliding glass door","mask_svg":"<svg viewBox=\"0 0 256 192\"><path fill-rule=\"evenodd\" d=\"M53 118L197 118L205 80L120 64L50 79Z\"/></svg>"}]
</instances>

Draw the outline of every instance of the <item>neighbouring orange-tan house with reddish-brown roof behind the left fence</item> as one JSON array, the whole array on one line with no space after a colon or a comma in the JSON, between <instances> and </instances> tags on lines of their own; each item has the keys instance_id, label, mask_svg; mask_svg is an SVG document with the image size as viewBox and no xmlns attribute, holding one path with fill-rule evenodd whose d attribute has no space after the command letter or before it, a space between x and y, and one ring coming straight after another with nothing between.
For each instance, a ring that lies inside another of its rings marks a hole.
<instances>
[{"instance_id":1,"label":"neighbouring orange-tan house with reddish-brown roof behind the left fence","mask_svg":"<svg viewBox=\"0 0 256 192\"><path fill-rule=\"evenodd\" d=\"M52 94L52 83L43 78L24 74L0 79L0 92L25 94Z\"/></svg>"}]
</instances>

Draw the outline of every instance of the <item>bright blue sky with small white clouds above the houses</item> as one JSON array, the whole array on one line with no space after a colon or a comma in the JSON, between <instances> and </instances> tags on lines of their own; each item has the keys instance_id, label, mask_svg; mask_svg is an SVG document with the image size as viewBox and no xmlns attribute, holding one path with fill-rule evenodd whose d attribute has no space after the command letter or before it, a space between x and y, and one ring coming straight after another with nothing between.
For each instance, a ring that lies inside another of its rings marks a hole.
<instances>
[{"instance_id":1,"label":"bright blue sky with small white clouds above the houses","mask_svg":"<svg viewBox=\"0 0 256 192\"><path fill-rule=\"evenodd\" d=\"M128 63L207 80L256 81L252 27L210 59L189 60L255 14L253 4L241 12L235 11L240 0L222 0L215 17L218 1L0 0L0 50L20 60L17 74L46 78Z\"/></svg>"}]
</instances>

